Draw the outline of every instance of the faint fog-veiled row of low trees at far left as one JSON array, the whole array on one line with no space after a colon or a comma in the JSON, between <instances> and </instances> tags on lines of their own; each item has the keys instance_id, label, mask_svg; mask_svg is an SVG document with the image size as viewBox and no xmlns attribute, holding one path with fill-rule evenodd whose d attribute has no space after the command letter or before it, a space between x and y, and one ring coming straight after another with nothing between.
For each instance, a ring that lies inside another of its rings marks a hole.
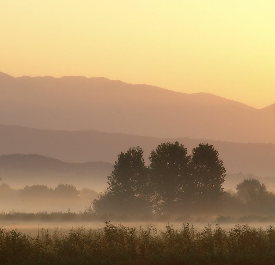
<instances>
[{"instance_id":1,"label":"faint fog-veiled row of low trees at far left","mask_svg":"<svg viewBox=\"0 0 275 265\"><path fill-rule=\"evenodd\" d=\"M0 185L0 200L2 206L0 212L11 210L23 212L39 211L71 211L83 212L90 201L97 198L94 190L60 183L57 187L45 185L25 186L22 189L12 189L8 184Z\"/></svg>"}]
</instances>

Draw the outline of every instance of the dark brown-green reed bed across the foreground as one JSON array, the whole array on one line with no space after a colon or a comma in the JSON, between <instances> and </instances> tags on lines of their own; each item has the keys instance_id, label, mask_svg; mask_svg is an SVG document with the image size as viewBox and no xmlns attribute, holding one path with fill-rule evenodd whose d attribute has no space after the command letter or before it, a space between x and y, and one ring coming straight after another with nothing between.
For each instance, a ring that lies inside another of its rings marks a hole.
<instances>
[{"instance_id":1,"label":"dark brown-green reed bed across the foreground","mask_svg":"<svg viewBox=\"0 0 275 265\"><path fill-rule=\"evenodd\" d=\"M166 225L63 232L41 229L39 235L0 229L0 264L274 264L275 230L216 225L198 230Z\"/></svg>"}]
</instances>

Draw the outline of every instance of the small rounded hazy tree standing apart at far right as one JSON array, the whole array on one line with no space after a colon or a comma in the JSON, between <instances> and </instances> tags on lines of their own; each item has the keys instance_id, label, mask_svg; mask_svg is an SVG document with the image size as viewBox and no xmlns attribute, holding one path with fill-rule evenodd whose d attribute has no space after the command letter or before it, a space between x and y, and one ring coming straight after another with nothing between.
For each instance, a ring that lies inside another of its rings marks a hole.
<instances>
[{"instance_id":1,"label":"small rounded hazy tree standing apart at far right","mask_svg":"<svg viewBox=\"0 0 275 265\"><path fill-rule=\"evenodd\" d=\"M259 205L266 198L269 192L266 189L266 185L260 183L258 179L245 178L236 187L237 196L246 203Z\"/></svg>"}]
</instances>

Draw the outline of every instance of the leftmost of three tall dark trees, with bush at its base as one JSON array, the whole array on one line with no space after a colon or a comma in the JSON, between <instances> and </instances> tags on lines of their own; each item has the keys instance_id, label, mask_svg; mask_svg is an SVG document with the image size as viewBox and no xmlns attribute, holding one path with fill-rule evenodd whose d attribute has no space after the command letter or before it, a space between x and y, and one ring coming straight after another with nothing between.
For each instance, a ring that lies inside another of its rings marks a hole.
<instances>
[{"instance_id":1,"label":"leftmost of three tall dark trees, with bush at its base","mask_svg":"<svg viewBox=\"0 0 275 265\"><path fill-rule=\"evenodd\" d=\"M135 211L146 206L148 169L140 147L119 154L112 175L108 176L108 184L107 191L93 202L96 212L106 212L110 208L116 212Z\"/></svg>"}]
</instances>

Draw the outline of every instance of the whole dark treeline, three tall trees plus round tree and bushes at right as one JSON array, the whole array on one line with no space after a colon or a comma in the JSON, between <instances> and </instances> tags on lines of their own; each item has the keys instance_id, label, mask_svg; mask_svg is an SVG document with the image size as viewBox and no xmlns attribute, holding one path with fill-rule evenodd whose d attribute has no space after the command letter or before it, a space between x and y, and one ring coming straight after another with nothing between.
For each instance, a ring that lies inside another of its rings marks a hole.
<instances>
[{"instance_id":1,"label":"whole dark treeline, three tall trees plus round tree and bushes at right","mask_svg":"<svg viewBox=\"0 0 275 265\"><path fill-rule=\"evenodd\" d=\"M187 154L178 141L162 143L145 166L140 147L118 156L109 187L92 201L96 214L275 213L275 196L258 179L244 179L236 192L222 188L226 169L212 145L201 143Z\"/></svg>"}]
</instances>

